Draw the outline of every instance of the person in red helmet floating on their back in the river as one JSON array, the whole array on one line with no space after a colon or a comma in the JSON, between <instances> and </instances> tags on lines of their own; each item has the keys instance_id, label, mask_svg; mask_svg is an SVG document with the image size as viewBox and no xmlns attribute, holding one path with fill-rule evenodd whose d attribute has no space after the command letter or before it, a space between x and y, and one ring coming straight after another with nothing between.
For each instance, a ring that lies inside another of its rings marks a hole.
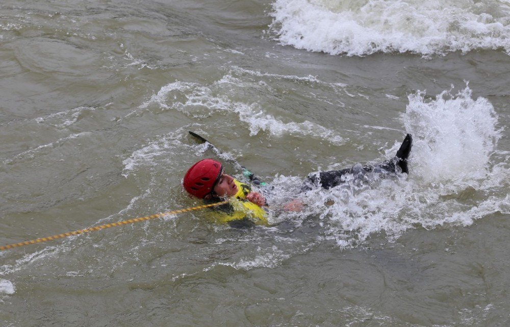
<instances>
[{"instance_id":1,"label":"person in red helmet floating on their back in the river","mask_svg":"<svg viewBox=\"0 0 510 327\"><path fill-rule=\"evenodd\" d=\"M367 173L376 173L381 177L409 174L407 158L411 153L413 138L407 134L392 160L377 165L356 164L351 168L340 170L319 171L311 173L303 183L301 191L308 191L314 187L330 189L345 183L349 177L363 179ZM398 168L397 168L398 167ZM206 203L214 203L227 197L227 204L212 207L214 214L211 218L216 222L226 222L233 227L253 224L268 224L268 204L266 198L251 185L242 183L223 170L223 165L214 159L202 159L191 166L183 180L185 190ZM287 211L300 211L300 200L292 200L284 206Z\"/></svg>"}]
</instances>

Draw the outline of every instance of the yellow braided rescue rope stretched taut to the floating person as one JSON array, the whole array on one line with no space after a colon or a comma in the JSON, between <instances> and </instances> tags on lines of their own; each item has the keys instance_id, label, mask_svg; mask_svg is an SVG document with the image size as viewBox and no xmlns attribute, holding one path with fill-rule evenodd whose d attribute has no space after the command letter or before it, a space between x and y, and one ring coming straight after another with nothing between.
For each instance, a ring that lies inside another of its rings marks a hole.
<instances>
[{"instance_id":1,"label":"yellow braided rescue rope stretched taut to the floating person","mask_svg":"<svg viewBox=\"0 0 510 327\"><path fill-rule=\"evenodd\" d=\"M209 205L202 205L202 206L196 206L196 207L191 207L191 208L167 211L167 212L157 213L157 214L150 215L150 216L145 216L145 217L126 219L126 220L122 220L122 221L106 223L104 225L94 226L94 227L91 227L91 228L86 228L84 230L78 230L78 231L74 231L74 232L67 232L67 233L57 234L57 235L53 235L53 236L41 237L41 238L38 238L38 239L35 239L35 240L30 240L30 241L24 241L24 242L19 242L19 243L7 244L7 245L4 245L4 246L0 246L0 250L6 250L6 249L11 248L11 247L29 245L29 244L34 244L34 243L46 242L46 241L54 240L54 239L61 238L61 237L67 237L67 236L71 236L71 235L88 233L88 232L92 232L92 231L100 231L100 230L104 230L105 228L109 228L109 227L120 226L120 225L124 225L124 224L128 224L128 223L134 223L134 222L138 222L138 221L154 219L154 218L158 218L158 217L163 217L163 216L173 215L173 214L177 214L177 213L188 212L188 211L192 211L192 210L198 210L198 209L203 209L203 208L208 208L208 207L219 206L219 205L223 205L223 204L226 204L226 203L228 203L228 200L225 200L225 201L222 201L222 202L216 202L216 203L209 204Z\"/></svg>"}]
</instances>

